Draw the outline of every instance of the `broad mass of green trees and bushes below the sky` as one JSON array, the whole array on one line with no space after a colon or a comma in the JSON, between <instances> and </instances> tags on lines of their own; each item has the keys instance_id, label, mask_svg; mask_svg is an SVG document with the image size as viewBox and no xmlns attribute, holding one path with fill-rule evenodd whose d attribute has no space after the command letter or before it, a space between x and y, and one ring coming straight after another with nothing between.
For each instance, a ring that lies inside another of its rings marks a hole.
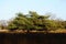
<instances>
[{"instance_id":1,"label":"broad mass of green trees and bushes below the sky","mask_svg":"<svg viewBox=\"0 0 66 44\"><path fill-rule=\"evenodd\" d=\"M66 29L66 21L50 18L51 15L41 15L33 11L30 11L28 14L16 13L6 25L1 24L0 26L10 31L55 31Z\"/></svg>"}]
</instances>

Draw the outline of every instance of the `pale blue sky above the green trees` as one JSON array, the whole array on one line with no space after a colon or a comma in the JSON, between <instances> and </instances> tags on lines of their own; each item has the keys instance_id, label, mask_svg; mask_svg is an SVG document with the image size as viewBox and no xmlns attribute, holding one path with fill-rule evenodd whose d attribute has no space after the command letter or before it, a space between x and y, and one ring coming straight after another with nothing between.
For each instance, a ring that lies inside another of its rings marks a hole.
<instances>
[{"instance_id":1,"label":"pale blue sky above the green trees","mask_svg":"<svg viewBox=\"0 0 66 44\"><path fill-rule=\"evenodd\" d=\"M66 0L0 0L0 20L9 20L15 13L36 11L40 14L52 12L66 20Z\"/></svg>"}]
</instances>

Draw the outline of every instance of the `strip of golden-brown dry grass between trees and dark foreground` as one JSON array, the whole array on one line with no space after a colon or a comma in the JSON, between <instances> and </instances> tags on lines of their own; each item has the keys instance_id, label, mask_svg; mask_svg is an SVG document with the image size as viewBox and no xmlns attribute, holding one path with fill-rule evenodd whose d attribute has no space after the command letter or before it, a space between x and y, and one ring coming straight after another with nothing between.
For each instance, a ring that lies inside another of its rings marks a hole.
<instances>
[{"instance_id":1,"label":"strip of golden-brown dry grass between trees and dark foreground","mask_svg":"<svg viewBox=\"0 0 66 44\"><path fill-rule=\"evenodd\" d=\"M28 31L22 31L22 30L18 30L18 31L9 31L9 30L0 30L0 33L28 33ZM47 33L45 31L30 31L30 33ZM48 31L48 33L66 33L65 29L59 29L56 31Z\"/></svg>"}]
</instances>

